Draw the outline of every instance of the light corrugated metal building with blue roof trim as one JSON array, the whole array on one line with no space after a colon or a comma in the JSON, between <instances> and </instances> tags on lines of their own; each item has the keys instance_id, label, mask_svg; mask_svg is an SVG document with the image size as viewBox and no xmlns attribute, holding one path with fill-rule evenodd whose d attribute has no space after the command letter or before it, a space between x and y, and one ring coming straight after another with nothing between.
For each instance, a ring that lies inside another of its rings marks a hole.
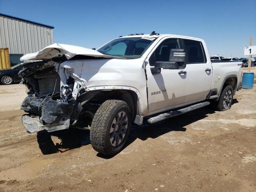
<instances>
[{"instance_id":1,"label":"light corrugated metal building with blue roof trim","mask_svg":"<svg viewBox=\"0 0 256 192\"><path fill-rule=\"evenodd\" d=\"M10 65L14 66L20 63L24 54L53 44L53 29L52 26L0 13L0 49L9 51Z\"/></svg>"}]
</instances>

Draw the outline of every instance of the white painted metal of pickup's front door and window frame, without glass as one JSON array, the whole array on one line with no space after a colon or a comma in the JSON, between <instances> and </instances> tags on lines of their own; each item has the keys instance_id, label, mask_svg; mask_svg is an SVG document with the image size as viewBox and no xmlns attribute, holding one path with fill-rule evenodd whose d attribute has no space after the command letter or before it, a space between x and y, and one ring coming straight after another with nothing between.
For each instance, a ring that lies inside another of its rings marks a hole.
<instances>
[{"instance_id":1,"label":"white painted metal of pickup's front door and window frame, without glass","mask_svg":"<svg viewBox=\"0 0 256 192\"><path fill-rule=\"evenodd\" d=\"M160 112L158 110L161 109L166 110L166 107L182 104L186 97L186 74L178 74L180 69L161 69L161 73L155 75L153 75L150 70L154 68L154 66L150 66L150 56L163 41L169 38L176 37L166 36L161 38L146 58L149 114ZM163 90L166 90L166 92L163 92ZM155 92L160 93L154 94Z\"/></svg>"}]
</instances>

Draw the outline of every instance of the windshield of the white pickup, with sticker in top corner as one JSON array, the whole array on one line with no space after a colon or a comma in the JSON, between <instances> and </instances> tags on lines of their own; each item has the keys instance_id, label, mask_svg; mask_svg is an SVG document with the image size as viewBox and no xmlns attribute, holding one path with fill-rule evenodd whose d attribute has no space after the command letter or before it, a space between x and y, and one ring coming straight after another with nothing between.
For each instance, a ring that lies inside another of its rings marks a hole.
<instances>
[{"instance_id":1,"label":"windshield of the white pickup, with sticker in top corner","mask_svg":"<svg viewBox=\"0 0 256 192\"><path fill-rule=\"evenodd\" d=\"M97 51L102 54L137 59L142 56L155 39L152 37L118 38L101 46Z\"/></svg>"}]
</instances>

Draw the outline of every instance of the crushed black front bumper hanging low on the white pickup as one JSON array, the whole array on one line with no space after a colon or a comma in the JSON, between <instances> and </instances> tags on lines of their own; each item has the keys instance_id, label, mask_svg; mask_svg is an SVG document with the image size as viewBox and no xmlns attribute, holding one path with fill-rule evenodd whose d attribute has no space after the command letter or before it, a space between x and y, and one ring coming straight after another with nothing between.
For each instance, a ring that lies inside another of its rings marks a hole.
<instances>
[{"instance_id":1,"label":"crushed black front bumper hanging low on the white pickup","mask_svg":"<svg viewBox=\"0 0 256 192\"><path fill-rule=\"evenodd\" d=\"M22 116L22 123L29 133L47 130L53 132L68 129L75 104L28 96L22 102L21 109L29 114Z\"/></svg>"}]
</instances>

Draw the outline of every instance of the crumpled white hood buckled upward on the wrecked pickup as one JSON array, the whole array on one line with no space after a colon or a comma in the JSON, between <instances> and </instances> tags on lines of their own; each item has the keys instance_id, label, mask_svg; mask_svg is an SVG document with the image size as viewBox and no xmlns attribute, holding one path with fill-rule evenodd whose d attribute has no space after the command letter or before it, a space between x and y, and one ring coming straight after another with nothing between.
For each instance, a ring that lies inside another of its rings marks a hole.
<instances>
[{"instance_id":1,"label":"crumpled white hood buckled upward on the wrecked pickup","mask_svg":"<svg viewBox=\"0 0 256 192\"><path fill-rule=\"evenodd\" d=\"M96 50L92 50L84 47L54 43L38 52L26 54L22 56L20 60L21 61L44 60L44 59L61 57L63 55L66 56L67 59L70 59L76 55L84 55L84 56L92 56L92 57L100 57L100 58L117 58L117 59L122 58L118 56L104 55Z\"/></svg>"}]
</instances>

